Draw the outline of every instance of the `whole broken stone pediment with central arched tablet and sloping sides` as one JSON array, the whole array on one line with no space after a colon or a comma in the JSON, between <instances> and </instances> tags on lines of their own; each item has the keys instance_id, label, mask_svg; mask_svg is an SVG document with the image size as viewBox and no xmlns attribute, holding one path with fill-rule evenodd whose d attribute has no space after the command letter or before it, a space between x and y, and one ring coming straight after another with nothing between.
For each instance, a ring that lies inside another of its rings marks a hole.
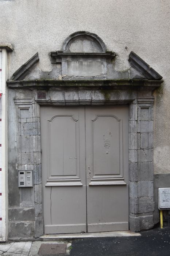
<instances>
[{"instance_id":1,"label":"whole broken stone pediment with central arched tablet and sloping sides","mask_svg":"<svg viewBox=\"0 0 170 256\"><path fill-rule=\"evenodd\" d=\"M36 66L39 61L36 53L13 74L12 80L162 79L134 52L129 55L130 66L126 70L113 68L115 58L116 53L108 52L100 37L79 31L65 39L62 50L51 52L51 71L42 71Z\"/></svg>"}]
</instances>

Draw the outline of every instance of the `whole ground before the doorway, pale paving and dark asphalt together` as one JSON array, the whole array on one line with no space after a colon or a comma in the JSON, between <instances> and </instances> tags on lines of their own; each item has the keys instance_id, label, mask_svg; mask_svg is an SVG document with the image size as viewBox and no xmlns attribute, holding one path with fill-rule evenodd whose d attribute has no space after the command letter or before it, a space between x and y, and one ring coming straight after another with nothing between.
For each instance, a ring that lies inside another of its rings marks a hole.
<instances>
[{"instance_id":1,"label":"whole ground before the doorway, pale paving and dark asphalt together","mask_svg":"<svg viewBox=\"0 0 170 256\"><path fill-rule=\"evenodd\" d=\"M170 229L152 229L141 236L88 237L72 242L35 241L0 244L4 256L169 256ZM51 250L51 251L50 251ZM53 252L53 253L52 253ZM58 253L55 253L58 252ZM46 254L43 254L46 253Z\"/></svg>"}]
</instances>

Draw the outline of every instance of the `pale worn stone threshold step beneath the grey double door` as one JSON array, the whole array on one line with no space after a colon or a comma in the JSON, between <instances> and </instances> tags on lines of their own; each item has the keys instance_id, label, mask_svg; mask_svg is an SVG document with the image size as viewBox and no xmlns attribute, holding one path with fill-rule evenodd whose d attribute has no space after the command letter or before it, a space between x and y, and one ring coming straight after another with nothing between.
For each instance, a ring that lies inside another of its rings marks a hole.
<instances>
[{"instance_id":1,"label":"pale worn stone threshold step beneath the grey double door","mask_svg":"<svg viewBox=\"0 0 170 256\"><path fill-rule=\"evenodd\" d=\"M74 234L44 234L40 237L42 241L71 241L78 238L88 237L130 237L141 236L140 233L127 231L96 232L96 233L74 233Z\"/></svg>"}]
</instances>

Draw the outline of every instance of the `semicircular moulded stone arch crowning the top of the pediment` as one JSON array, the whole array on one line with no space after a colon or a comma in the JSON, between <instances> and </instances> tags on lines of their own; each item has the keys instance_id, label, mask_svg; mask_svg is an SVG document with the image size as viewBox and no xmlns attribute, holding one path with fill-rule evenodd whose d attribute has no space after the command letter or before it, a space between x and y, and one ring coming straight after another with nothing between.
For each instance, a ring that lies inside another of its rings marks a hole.
<instances>
[{"instance_id":1,"label":"semicircular moulded stone arch crowning the top of the pediment","mask_svg":"<svg viewBox=\"0 0 170 256\"><path fill-rule=\"evenodd\" d=\"M62 50L63 52L100 53L106 51L106 46L103 40L96 34L78 31L66 38Z\"/></svg>"}]
</instances>

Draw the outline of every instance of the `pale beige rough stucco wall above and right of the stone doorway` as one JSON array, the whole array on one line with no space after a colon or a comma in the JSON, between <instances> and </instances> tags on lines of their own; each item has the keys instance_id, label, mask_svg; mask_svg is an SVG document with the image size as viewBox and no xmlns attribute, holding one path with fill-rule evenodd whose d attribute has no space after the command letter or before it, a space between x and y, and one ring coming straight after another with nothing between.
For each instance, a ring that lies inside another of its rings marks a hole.
<instances>
[{"instance_id":1,"label":"pale beige rough stucco wall above and right of the stone doorway","mask_svg":"<svg viewBox=\"0 0 170 256\"><path fill-rule=\"evenodd\" d=\"M155 91L154 173L170 172L170 2L169 0L1 0L1 42L13 45L9 78L36 52L39 69L52 69L49 52L79 30L100 36L125 70L133 50L163 76ZM127 46L127 49L125 49Z\"/></svg>"}]
</instances>

